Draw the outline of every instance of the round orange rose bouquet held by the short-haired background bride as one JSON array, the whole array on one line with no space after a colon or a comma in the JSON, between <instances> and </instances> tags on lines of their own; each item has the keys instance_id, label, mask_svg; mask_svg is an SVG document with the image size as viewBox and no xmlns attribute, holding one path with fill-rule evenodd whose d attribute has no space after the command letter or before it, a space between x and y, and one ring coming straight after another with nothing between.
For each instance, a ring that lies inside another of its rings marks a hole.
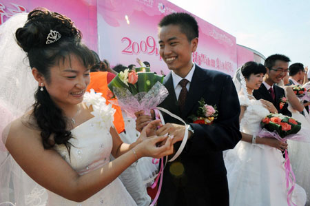
<instances>
[{"instance_id":1,"label":"round orange rose bouquet held by the short-haired background bride","mask_svg":"<svg viewBox=\"0 0 310 206\"><path fill-rule=\"evenodd\" d=\"M276 132L281 138L289 134L296 134L301 129L301 123L282 114L268 114L260 125L269 132Z\"/></svg>"}]
</instances>

